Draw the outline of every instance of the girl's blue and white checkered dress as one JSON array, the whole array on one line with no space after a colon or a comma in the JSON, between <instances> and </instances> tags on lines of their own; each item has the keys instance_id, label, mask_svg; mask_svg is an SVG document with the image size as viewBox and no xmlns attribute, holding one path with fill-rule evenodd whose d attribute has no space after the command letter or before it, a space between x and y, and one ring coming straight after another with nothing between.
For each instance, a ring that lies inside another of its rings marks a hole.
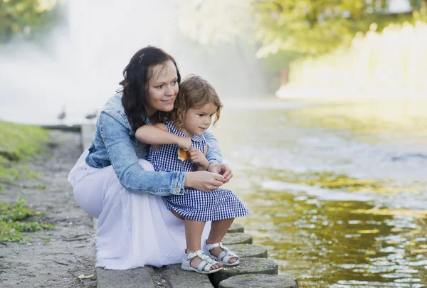
<instances>
[{"instance_id":1,"label":"girl's blue and white checkered dress","mask_svg":"<svg viewBox=\"0 0 427 288\"><path fill-rule=\"evenodd\" d=\"M186 137L186 134L174 127L171 122L164 123L169 132ZM191 146L202 153L206 146L206 139L196 134L191 137ZM194 171L196 164L191 161L178 159L178 146L174 144L162 145L159 149L150 149L149 161L156 171ZM228 218L248 216L248 209L240 199L228 189L216 189L212 192L198 191L186 188L184 196L162 196L169 210L174 210L184 218L196 221L214 221Z\"/></svg>"}]
</instances>

